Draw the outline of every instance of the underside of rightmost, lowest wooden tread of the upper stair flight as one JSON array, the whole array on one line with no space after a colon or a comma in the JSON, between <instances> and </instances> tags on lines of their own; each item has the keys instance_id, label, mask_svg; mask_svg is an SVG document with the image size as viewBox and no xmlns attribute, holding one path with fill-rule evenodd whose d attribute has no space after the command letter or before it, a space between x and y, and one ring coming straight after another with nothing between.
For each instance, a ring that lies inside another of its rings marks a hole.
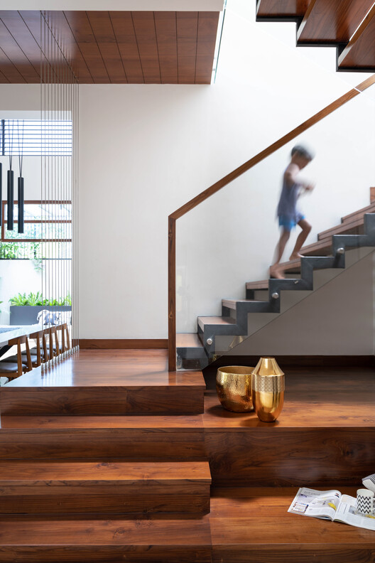
<instances>
[{"instance_id":1,"label":"underside of rightmost, lowest wooden tread of the upper stair flight","mask_svg":"<svg viewBox=\"0 0 375 563\"><path fill-rule=\"evenodd\" d=\"M338 60L339 70L375 70L375 4L344 48Z\"/></svg>"}]
</instances>

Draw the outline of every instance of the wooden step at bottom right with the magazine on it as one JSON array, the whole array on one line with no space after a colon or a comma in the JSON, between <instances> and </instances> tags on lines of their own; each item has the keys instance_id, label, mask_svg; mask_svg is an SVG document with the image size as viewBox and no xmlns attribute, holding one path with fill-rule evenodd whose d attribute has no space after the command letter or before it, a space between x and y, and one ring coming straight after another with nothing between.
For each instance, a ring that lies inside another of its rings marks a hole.
<instances>
[{"instance_id":1,"label":"wooden step at bottom right with the magazine on it","mask_svg":"<svg viewBox=\"0 0 375 563\"><path fill-rule=\"evenodd\" d=\"M337 488L344 494L356 495L356 488L340 485ZM210 515L212 561L373 561L373 531L288 513L297 491L297 488L277 487L213 489Z\"/></svg>"}]
</instances>

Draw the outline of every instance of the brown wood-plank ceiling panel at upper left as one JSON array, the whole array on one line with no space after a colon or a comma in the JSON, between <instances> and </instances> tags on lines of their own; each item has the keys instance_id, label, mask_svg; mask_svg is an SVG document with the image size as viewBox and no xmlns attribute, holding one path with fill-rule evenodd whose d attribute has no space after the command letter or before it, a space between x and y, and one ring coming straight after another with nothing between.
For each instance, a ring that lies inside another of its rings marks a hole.
<instances>
[{"instance_id":1,"label":"brown wood-plank ceiling panel at upper left","mask_svg":"<svg viewBox=\"0 0 375 563\"><path fill-rule=\"evenodd\" d=\"M81 84L210 84L219 12L53 11ZM0 11L0 82L40 82L40 12ZM50 48L48 58L56 57Z\"/></svg>"}]
</instances>

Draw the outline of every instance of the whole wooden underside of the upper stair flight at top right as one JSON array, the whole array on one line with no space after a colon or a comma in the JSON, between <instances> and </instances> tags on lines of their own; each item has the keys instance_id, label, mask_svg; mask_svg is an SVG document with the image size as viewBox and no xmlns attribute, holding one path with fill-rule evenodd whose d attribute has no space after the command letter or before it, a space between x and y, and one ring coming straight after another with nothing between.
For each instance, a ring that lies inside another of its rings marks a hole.
<instances>
[{"instance_id":1,"label":"whole wooden underside of the upper stair flight at top right","mask_svg":"<svg viewBox=\"0 0 375 563\"><path fill-rule=\"evenodd\" d=\"M374 0L257 0L259 21L295 20L297 45L337 45L337 70L374 72Z\"/></svg>"}]
</instances>

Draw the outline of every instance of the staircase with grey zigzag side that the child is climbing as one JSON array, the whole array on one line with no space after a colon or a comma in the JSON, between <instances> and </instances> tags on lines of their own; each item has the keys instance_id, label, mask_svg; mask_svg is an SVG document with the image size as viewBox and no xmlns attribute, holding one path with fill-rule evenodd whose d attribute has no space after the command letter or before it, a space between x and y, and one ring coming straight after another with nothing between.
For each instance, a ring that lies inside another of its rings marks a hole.
<instances>
[{"instance_id":1,"label":"staircase with grey zigzag side that the child is climbing","mask_svg":"<svg viewBox=\"0 0 375 563\"><path fill-rule=\"evenodd\" d=\"M320 232L317 242L303 247L304 257L284 262L286 279L263 279L246 283L246 299L222 299L222 316L197 319L196 334L178 334L179 367L204 368L222 355L218 336L249 336L249 313L280 313L282 291L313 291L313 274L320 269L343 269L345 251L375 246L375 203L342 218L341 224ZM263 300L255 299L263 297ZM238 343L238 339L233 341Z\"/></svg>"}]
</instances>

